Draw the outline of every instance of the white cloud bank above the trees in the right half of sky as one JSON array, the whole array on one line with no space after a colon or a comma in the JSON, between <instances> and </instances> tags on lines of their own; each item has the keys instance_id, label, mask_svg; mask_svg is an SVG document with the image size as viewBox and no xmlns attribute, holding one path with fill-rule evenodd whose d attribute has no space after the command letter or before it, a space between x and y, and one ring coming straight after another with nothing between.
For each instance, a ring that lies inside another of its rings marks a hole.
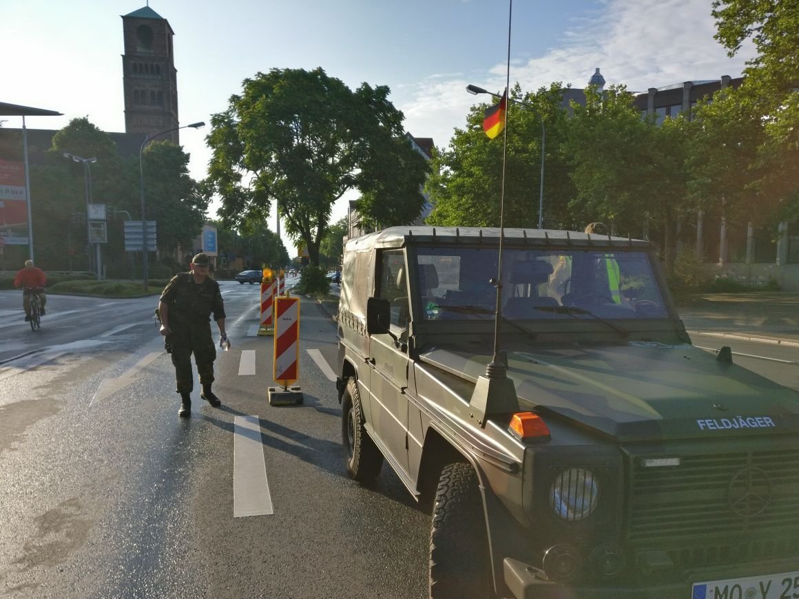
<instances>
[{"instance_id":1,"label":"white cloud bank above the trees in the right half of sky","mask_svg":"<svg viewBox=\"0 0 799 599\"><path fill-rule=\"evenodd\" d=\"M527 61L511 60L511 85L535 90L552 81L585 87L594 69L602 69L607 85L624 84L631 92L682 81L740 76L753 46L745 44L735 58L714 40L709 0L606 0L594 14L574 20L562 35L562 45ZM514 30L519 38L522 32ZM511 53L515 46L511 39ZM506 66L495 65L483 78L466 81L439 74L403 89L407 101L398 105L406 127L435 144L449 144L455 127L463 128L469 107L483 97L466 93L474 83L486 89L505 87Z\"/></svg>"}]
</instances>

